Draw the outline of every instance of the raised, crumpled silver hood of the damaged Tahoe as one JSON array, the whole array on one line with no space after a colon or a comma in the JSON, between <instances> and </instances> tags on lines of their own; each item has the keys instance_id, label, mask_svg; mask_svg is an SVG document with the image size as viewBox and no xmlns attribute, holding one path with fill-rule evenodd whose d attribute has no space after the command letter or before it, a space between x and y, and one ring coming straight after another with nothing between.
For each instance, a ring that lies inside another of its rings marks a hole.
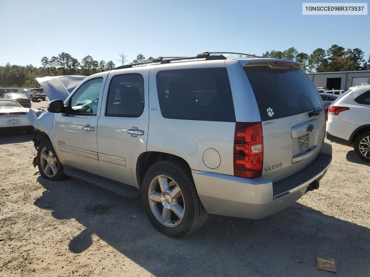
<instances>
[{"instance_id":1,"label":"raised, crumpled silver hood of the damaged Tahoe","mask_svg":"<svg viewBox=\"0 0 370 277\"><path fill-rule=\"evenodd\" d=\"M55 99L64 101L86 77L80 75L46 76L36 78L36 81L40 83L50 101Z\"/></svg>"}]
</instances>

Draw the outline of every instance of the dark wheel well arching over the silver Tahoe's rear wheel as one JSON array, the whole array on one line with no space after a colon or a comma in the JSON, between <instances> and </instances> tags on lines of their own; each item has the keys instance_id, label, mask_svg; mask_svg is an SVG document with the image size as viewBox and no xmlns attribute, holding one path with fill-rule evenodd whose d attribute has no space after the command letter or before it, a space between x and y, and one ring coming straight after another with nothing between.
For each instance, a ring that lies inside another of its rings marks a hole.
<instances>
[{"instance_id":1,"label":"dark wheel well arching over the silver Tahoe's rear wheel","mask_svg":"<svg viewBox=\"0 0 370 277\"><path fill-rule=\"evenodd\" d=\"M184 164L190 170L189 164L179 156L155 151L145 152L139 156L136 164L136 177L138 179L139 187L141 187L142 180L144 179L144 175L148 171L149 167L155 163L165 160L177 161Z\"/></svg>"}]
</instances>

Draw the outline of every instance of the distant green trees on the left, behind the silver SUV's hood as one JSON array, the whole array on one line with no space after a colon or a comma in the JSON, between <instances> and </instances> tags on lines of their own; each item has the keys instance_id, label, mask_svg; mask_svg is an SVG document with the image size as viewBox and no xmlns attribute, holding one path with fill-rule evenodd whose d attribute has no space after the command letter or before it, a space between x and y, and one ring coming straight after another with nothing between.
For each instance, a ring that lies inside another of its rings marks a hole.
<instances>
[{"instance_id":1,"label":"distant green trees on the left, behind the silver SUV's hood","mask_svg":"<svg viewBox=\"0 0 370 277\"><path fill-rule=\"evenodd\" d=\"M120 53L117 59L121 65L128 64L124 53ZM151 61L153 57L145 59L144 55L137 55L129 64L138 62ZM0 87L1 88L31 88L36 85L35 78L44 76L58 75L85 75L89 76L94 73L108 71L116 68L113 61L105 62L104 60L94 60L90 55L84 57L81 61L73 58L66 52L61 52L51 58L42 57L41 66L33 65L10 65L0 66Z\"/></svg>"}]
</instances>

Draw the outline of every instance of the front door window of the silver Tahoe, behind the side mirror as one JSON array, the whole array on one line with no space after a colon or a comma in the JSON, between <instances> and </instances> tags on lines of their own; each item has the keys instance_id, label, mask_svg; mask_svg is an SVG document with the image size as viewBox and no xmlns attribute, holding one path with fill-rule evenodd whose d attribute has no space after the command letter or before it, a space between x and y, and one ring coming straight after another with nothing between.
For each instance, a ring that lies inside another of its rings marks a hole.
<instances>
[{"instance_id":1,"label":"front door window of the silver Tahoe, behind the side mirror","mask_svg":"<svg viewBox=\"0 0 370 277\"><path fill-rule=\"evenodd\" d=\"M91 79L74 93L71 99L71 114L97 115L103 78Z\"/></svg>"}]
</instances>

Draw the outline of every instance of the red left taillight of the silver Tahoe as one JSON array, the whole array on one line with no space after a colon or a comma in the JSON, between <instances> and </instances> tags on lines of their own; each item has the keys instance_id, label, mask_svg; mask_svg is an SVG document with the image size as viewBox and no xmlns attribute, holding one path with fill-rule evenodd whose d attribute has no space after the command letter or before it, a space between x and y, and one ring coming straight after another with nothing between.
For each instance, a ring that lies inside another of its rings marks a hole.
<instances>
[{"instance_id":1,"label":"red left taillight of the silver Tahoe","mask_svg":"<svg viewBox=\"0 0 370 277\"><path fill-rule=\"evenodd\" d=\"M263 136L261 122L236 122L234 134L234 176L262 175Z\"/></svg>"}]
</instances>

